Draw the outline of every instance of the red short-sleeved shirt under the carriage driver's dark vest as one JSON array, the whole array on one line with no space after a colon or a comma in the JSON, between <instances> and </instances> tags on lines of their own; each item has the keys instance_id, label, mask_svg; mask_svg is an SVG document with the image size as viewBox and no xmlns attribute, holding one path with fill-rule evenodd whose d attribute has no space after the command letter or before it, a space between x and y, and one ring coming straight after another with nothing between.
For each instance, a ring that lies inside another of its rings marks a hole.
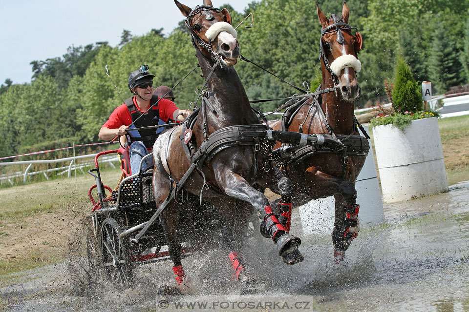
<instances>
[{"instance_id":1,"label":"red short-sleeved shirt under the carriage driver's dark vest","mask_svg":"<svg viewBox=\"0 0 469 312\"><path fill-rule=\"evenodd\" d=\"M132 98L133 103L135 104L135 107L143 114L145 111L142 111L140 107L137 105L137 101L135 100L135 97ZM162 98L156 104L158 107L159 113L160 113L160 118L164 122L168 122L168 119L172 119L172 115L175 110L178 108L176 105L170 101L169 99ZM127 105L124 103L120 106L118 106L109 116L109 119L105 122L103 127L109 128L109 129L117 129L120 126L128 126L129 124L132 123L132 117L130 116L130 112L128 111Z\"/></svg>"}]
</instances>

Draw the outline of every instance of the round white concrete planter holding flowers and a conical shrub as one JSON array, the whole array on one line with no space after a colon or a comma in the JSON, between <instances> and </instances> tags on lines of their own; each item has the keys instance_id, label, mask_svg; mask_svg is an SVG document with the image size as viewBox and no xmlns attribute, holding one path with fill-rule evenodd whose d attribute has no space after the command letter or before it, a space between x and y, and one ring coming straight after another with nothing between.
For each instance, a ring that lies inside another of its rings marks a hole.
<instances>
[{"instance_id":1,"label":"round white concrete planter holding flowers and a conical shrub","mask_svg":"<svg viewBox=\"0 0 469 312\"><path fill-rule=\"evenodd\" d=\"M448 191L436 117L412 121L402 132L392 125L373 127L385 202Z\"/></svg>"}]
</instances>

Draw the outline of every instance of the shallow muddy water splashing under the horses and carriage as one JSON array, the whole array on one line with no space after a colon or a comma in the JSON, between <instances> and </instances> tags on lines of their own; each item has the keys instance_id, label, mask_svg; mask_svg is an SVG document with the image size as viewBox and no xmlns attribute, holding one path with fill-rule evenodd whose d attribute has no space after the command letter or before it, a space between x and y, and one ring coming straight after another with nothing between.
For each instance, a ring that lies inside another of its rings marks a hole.
<instances>
[{"instance_id":1,"label":"shallow muddy water splashing under the horses and carriage","mask_svg":"<svg viewBox=\"0 0 469 312\"><path fill-rule=\"evenodd\" d=\"M469 311L469 183L446 194L385 205L384 214L384 223L362 229L347 252L347 266L339 270L332 265L330 235L305 236L293 224L305 256L293 266L283 264L269 240L252 239L245 262L259 282L256 296L237 295L231 266L216 247L183 260L192 296L155 301L157 286L173 283L169 261L138 267L133 290L121 294L104 286L94 293L80 271L84 259L76 259L68 268L18 274L27 294L17 310ZM2 292L6 289L2 285Z\"/></svg>"}]
</instances>

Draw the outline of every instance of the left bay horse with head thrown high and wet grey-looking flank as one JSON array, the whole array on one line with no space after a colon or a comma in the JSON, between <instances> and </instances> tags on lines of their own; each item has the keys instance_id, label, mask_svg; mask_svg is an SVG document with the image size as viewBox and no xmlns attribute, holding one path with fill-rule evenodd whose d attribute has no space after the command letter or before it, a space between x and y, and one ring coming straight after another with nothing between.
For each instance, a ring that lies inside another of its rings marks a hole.
<instances>
[{"instance_id":1,"label":"left bay horse with head thrown high and wet grey-looking flank","mask_svg":"<svg viewBox=\"0 0 469 312\"><path fill-rule=\"evenodd\" d=\"M255 292L256 281L238 254L254 212L252 207L267 222L267 233L285 263L295 264L303 257L298 251L299 238L288 233L273 215L266 196L251 185L277 189L281 203L291 207L292 183L275 167L270 157L273 144L263 140L267 127L253 112L232 67L239 56L239 43L230 13L214 8L211 0L204 0L193 10L174 2L186 17L207 91L201 88L200 108L185 124L160 135L153 146L156 206L166 207L160 220L178 285L167 289L189 290L176 232L180 206L168 200L171 192L183 188L213 203L220 212L224 222L222 245L233 265L233 277L241 282L242 293Z\"/></svg>"}]
</instances>

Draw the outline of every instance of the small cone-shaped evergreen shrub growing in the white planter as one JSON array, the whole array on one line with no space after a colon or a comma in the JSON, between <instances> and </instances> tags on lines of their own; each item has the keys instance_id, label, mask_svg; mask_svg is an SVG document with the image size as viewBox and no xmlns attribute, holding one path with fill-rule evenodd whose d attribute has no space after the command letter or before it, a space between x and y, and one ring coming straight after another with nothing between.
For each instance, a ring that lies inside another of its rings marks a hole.
<instances>
[{"instance_id":1,"label":"small cone-shaped evergreen shrub growing in the white planter","mask_svg":"<svg viewBox=\"0 0 469 312\"><path fill-rule=\"evenodd\" d=\"M402 56L397 61L392 101L396 112L417 112L423 108L422 91Z\"/></svg>"}]
</instances>

